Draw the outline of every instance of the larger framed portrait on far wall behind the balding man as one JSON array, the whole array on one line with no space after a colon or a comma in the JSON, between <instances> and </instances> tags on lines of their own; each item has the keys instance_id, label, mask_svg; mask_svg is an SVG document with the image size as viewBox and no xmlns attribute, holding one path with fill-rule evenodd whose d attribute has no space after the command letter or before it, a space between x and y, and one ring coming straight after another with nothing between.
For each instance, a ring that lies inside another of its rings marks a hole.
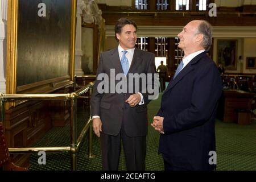
<instances>
[{"instance_id":1,"label":"larger framed portrait on far wall behind the balding man","mask_svg":"<svg viewBox=\"0 0 256 182\"><path fill-rule=\"evenodd\" d=\"M217 40L217 63L226 70L237 69L237 40Z\"/></svg>"}]
</instances>

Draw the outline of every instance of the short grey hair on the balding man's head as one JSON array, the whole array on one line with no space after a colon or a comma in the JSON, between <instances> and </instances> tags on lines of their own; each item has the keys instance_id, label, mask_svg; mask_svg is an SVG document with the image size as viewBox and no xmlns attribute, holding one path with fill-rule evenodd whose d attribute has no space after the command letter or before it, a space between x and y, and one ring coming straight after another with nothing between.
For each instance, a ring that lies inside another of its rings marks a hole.
<instances>
[{"instance_id":1,"label":"short grey hair on the balding man's head","mask_svg":"<svg viewBox=\"0 0 256 182\"><path fill-rule=\"evenodd\" d=\"M204 47L205 51L209 51L212 46L212 26L206 20L202 20L198 27L199 34L203 34L203 42L201 46Z\"/></svg>"}]
</instances>

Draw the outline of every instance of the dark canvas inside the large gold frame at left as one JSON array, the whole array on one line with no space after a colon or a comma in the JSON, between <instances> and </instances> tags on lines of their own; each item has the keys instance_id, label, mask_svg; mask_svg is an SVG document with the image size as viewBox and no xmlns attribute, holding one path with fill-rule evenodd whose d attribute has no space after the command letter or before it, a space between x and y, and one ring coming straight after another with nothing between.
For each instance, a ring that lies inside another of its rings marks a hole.
<instances>
[{"instance_id":1,"label":"dark canvas inside the large gold frame at left","mask_svg":"<svg viewBox=\"0 0 256 182\"><path fill-rule=\"evenodd\" d=\"M39 16L39 3L46 16ZM17 86L69 75L71 0L19 0Z\"/></svg>"}]
</instances>

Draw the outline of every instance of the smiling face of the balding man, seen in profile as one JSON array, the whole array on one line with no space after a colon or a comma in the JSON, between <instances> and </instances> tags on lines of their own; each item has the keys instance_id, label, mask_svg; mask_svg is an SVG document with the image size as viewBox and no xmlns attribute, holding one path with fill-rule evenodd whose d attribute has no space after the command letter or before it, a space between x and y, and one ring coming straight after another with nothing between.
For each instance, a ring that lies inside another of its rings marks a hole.
<instances>
[{"instance_id":1,"label":"smiling face of the balding man, seen in profile","mask_svg":"<svg viewBox=\"0 0 256 182\"><path fill-rule=\"evenodd\" d=\"M197 27L199 26L198 21L189 22L183 30L177 35L180 39L179 48L186 50L191 48L196 41L196 34L198 32Z\"/></svg>"}]
</instances>

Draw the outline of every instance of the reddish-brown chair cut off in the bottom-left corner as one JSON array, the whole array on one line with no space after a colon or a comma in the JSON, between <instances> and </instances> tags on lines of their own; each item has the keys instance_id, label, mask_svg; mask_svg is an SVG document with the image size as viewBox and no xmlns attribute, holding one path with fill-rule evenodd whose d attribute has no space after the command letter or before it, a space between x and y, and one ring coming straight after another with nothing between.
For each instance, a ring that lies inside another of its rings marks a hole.
<instances>
[{"instance_id":1,"label":"reddish-brown chair cut off in the bottom-left corner","mask_svg":"<svg viewBox=\"0 0 256 182\"><path fill-rule=\"evenodd\" d=\"M3 133L3 126L0 122L0 168L4 167L7 171L27 171L26 167L16 166L10 162L9 150L5 142L5 135Z\"/></svg>"}]
</instances>

